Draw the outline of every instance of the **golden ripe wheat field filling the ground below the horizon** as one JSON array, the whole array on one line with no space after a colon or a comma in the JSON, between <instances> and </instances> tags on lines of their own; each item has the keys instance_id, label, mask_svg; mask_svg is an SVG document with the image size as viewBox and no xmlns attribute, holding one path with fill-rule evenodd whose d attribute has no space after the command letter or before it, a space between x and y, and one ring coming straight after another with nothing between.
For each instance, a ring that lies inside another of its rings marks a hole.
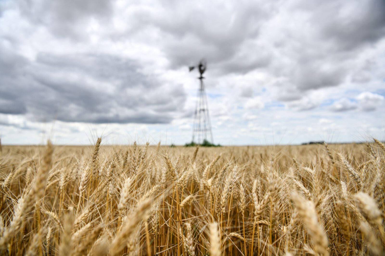
<instances>
[{"instance_id":1,"label":"golden ripe wheat field filling the ground below the horizon","mask_svg":"<svg viewBox=\"0 0 385 256\"><path fill-rule=\"evenodd\" d=\"M385 146L3 146L0 254L383 255Z\"/></svg>"}]
</instances>

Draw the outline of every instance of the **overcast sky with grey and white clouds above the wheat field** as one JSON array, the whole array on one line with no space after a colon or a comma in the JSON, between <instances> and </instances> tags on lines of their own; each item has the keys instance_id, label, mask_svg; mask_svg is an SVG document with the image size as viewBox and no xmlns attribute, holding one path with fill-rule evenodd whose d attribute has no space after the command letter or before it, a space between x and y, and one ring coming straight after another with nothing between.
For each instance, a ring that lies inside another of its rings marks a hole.
<instances>
[{"instance_id":1,"label":"overcast sky with grey and white clouds above the wheat field","mask_svg":"<svg viewBox=\"0 0 385 256\"><path fill-rule=\"evenodd\" d=\"M2 144L385 138L385 1L0 0Z\"/></svg>"}]
</instances>

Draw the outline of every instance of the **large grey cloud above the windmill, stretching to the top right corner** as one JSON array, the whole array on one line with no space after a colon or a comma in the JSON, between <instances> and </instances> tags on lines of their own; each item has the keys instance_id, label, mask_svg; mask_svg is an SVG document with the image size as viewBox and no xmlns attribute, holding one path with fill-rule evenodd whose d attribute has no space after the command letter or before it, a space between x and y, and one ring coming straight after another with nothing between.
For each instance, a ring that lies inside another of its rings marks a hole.
<instances>
[{"instance_id":1,"label":"large grey cloud above the windmill, stretching to the top right corner","mask_svg":"<svg viewBox=\"0 0 385 256\"><path fill-rule=\"evenodd\" d=\"M286 76L301 91L339 85L362 47L385 35L383 1L290 2L287 7L279 1L220 6L171 1L156 11L138 9L134 15L143 22L138 25L165 34L160 47L171 67L202 56L219 75L244 74L268 68L273 61L281 70L277 75ZM269 30L279 31L281 38L266 41L274 32Z\"/></svg>"}]
</instances>

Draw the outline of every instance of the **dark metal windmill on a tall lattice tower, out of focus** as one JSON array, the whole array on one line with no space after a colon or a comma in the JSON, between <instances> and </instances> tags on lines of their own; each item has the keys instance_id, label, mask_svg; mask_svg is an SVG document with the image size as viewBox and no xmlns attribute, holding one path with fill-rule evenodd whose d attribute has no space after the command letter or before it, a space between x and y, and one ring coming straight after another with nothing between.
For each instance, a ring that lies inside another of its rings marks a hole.
<instances>
[{"instance_id":1,"label":"dark metal windmill on a tall lattice tower, out of focus","mask_svg":"<svg viewBox=\"0 0 385 256\"><path fill-rule=\"evenodd\" d=\"M207 104L206 91L204 90L203 73L206 71L206 60L201 60L198 66L190 66L190 71L194 68L199 69L199 89L194 112L194 123L192 126L192 142L202 144L205 140L214 144L213 132L211 131L211 122L209 115L209 106ZM209 137L208 137L209 136Z\"/></svg>"}]
</instances>

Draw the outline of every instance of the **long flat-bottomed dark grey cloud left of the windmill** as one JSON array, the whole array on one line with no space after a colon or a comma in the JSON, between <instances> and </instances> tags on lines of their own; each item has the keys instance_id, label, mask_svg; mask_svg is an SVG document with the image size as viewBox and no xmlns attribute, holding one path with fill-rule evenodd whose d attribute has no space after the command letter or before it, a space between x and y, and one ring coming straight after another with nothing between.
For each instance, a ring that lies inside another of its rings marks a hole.
<instances>
[{"instance_id":1,"label":"long flat-bottomed dark grey cloud left of the windmill","mask_svg":"<svg viewBox=\"0 0 385 256\"><path fill-rule=\"evenodd\" d=\"M20 58L13 56L23 63L12 69L16 73L0 70L1 113L39 121L169 123L184 106L180 85L142 73L131 59L91 53Z\"/></svg>"}]
</instances>

